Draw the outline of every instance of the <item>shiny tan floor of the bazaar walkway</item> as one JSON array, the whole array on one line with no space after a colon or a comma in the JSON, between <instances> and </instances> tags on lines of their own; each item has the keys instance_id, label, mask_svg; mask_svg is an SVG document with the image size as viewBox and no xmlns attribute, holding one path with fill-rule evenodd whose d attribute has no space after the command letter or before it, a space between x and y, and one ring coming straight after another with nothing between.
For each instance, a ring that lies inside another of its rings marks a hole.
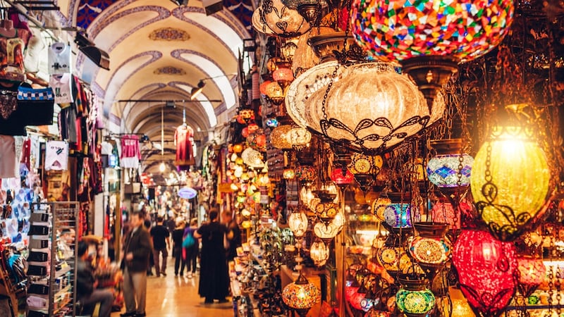
<instances>
[{"instance_id":1,"label":"shiny tan floor of the bazaar walkway","mask_svg":"<svg viewBox=\"0 0 564 317\"><path fill-rule=\"evenodd\" d=\"M226 304L204 304L198 295L198 275L193 278L174 276L173 262L168 262L166 277L147 278L148 317L226 317L233 316L231 299ZM125 308L122 312L125 311ZM111 317L119 317L112 313Z\"/></svg>"}]
</instances>

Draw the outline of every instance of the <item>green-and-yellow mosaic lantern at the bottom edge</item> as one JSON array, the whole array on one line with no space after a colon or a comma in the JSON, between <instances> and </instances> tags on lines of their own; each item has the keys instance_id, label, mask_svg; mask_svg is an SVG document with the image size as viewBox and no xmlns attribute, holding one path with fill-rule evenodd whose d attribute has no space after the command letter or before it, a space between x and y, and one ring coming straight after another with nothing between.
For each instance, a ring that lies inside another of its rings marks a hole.
<instances>
[{"instance_id":1,"label":"green-and-yellow mosaic lantern at the bottom edge","mask_svg":"<svg viewBox=\"0 0 564 317\"><path fill-rule=\"evenodd\" d=\"M398 278L400 290L396 293L398 310L407 317L427 316L435 306L435 295L422 275L402 275Z\"/></svg>"}]
</instances>

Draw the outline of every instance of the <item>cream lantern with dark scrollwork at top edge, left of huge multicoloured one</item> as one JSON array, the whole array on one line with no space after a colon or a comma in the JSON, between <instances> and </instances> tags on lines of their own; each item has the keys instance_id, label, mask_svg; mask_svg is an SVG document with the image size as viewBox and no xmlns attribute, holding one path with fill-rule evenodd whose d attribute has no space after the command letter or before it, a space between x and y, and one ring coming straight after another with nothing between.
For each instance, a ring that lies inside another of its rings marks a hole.
<instances>
[{"instance_id":1,"label":"cream lantern with dark scrollwork at top edge, left of huge multicoloured one","mask_svg":"<svg viewBox=\"0 0 564 317\"><path fill-rule=\"evenodd\" d=\"M281 0L264 0L252 14L252 26L265 35L298 37L311 28L300 13Z\"/></svg>"}]
</instances>

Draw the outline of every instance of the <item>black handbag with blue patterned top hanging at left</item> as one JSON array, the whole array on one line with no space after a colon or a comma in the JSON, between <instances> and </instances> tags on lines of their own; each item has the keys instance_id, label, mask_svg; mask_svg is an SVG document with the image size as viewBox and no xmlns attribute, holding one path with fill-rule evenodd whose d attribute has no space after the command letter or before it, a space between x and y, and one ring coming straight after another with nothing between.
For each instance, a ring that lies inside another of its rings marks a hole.
<instances>
[{"instance_id":1,"label":"black handbag with blue patterned top hanging at left","mask_svg":"<svg viewBox=\"0 0 564 317\"><path fill-rule=\"evenodd\" d=\"M26 113L27 125L52 125L54 105L53 89L18 87L18 108Z\"/></svg>"}]
</instances>

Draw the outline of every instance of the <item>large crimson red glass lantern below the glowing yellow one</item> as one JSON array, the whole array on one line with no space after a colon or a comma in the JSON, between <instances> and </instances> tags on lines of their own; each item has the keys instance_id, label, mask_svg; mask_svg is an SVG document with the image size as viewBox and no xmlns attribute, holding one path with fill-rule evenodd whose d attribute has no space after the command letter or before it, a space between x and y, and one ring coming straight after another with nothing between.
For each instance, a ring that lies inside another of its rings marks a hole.
<instances>
[{"instance_id":1,"label":"large crimson red glass lantern below the glowing yellow one","mask_svg":"<svg viewBox=\"0 0 564 317\"><path fill-rule=\"evenodd\" d=\"M484 316L498 316L515 290L515 247L487 231L462 230L453 249L453 265L468 304Z\"/></svg>"}]
</instances>

